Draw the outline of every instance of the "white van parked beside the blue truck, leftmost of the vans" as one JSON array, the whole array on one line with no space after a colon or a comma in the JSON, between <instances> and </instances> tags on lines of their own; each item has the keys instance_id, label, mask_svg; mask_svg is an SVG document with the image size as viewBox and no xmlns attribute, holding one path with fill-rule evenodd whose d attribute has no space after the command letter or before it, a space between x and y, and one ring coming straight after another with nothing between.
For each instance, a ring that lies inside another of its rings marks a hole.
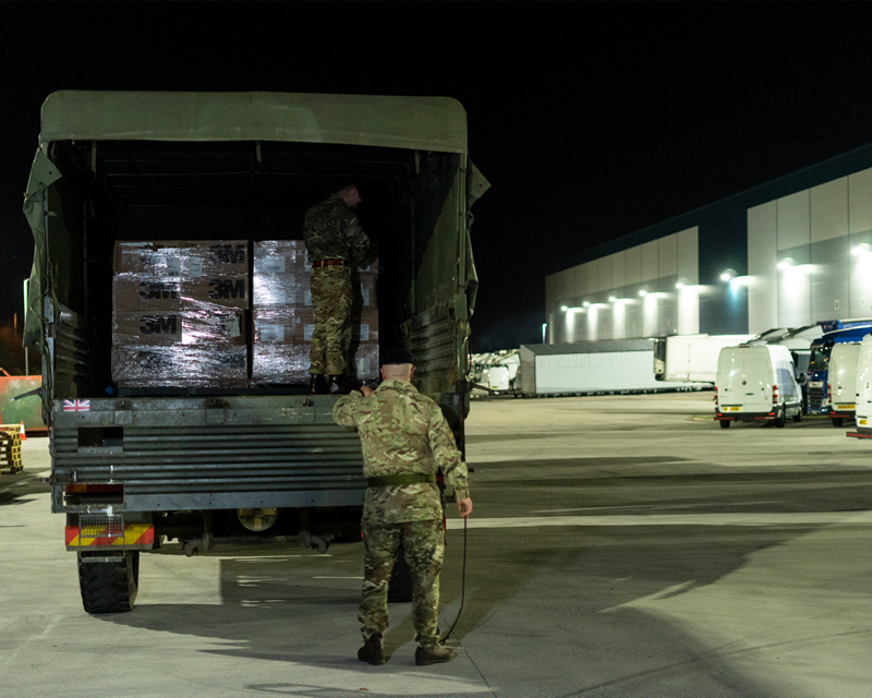
<instances>
[{"instance_id":1,"label":"white van parked beside the blue truck, leftmost of the vans","mask_svg":"<svg viewBox=\"0 0 872 698\"><path fill-rule=\"evenodd\" d=\"M802 419L802 393L787 347L724 347L715 376L715 420L720 426L734 421L784 426L788 417Z\"/></svg>"}]
</instances>

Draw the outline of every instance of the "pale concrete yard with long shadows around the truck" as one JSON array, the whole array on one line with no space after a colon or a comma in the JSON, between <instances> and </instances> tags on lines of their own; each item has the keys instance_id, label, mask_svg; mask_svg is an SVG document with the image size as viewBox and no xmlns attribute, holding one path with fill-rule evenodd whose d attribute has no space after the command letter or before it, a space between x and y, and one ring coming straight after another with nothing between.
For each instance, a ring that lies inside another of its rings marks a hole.
<instances>
[{"instance_id":1,"label":"pale concrete yard with long shadows around the truck","mask_svg":"<svg viewBox=\"0 0 872 698\"><path fill-rule=\"evenodd\" d=\"M409 604L356 661L360 544L144 555L137 607L87 615L31 438L0 474L0 696L869 696L872 443L722 430L711 398L475 401L460 657L431 667Z\"/></svg>"}]
</instances>

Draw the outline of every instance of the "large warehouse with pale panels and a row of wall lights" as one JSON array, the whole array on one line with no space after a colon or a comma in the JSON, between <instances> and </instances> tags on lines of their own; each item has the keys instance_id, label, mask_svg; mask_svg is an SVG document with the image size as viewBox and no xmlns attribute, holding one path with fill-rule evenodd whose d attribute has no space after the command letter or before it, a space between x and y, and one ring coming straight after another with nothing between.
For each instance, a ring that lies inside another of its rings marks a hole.
<instances>
[{"instance_id":1,"label":"large warehouse with pale panels and a row of wall lights","mask_svg":"<svg viewBox=\"0 0 872 698\"><path fill-rule=\"evenodd\" d=\"M547 342L872 316L872 144L565 260Z\"/></svg>"}]
</instances>

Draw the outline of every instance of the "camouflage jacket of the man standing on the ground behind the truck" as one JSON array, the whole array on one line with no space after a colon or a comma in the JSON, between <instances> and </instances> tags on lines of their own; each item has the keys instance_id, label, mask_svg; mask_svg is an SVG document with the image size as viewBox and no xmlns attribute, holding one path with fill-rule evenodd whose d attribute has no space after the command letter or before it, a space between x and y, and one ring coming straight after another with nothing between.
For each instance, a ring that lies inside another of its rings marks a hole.
<instances>
[{"instance_id":1,"label":"camouflage jacket of the man standing on the ground behind the truck","mask_svg":"<svg viewBox=\"0 0 872 698\"><path fill-rule=\"evenodd\" d=\"M441 471L458 500L467 498L467 464L439 406L407 381L384 381L370 397L356 390L334 406L334 421L356 426L367 478ZM443 517L439 489L422 482L368 488L363 518L371 525L426 521Z\"/></svg>"}]
</instances>

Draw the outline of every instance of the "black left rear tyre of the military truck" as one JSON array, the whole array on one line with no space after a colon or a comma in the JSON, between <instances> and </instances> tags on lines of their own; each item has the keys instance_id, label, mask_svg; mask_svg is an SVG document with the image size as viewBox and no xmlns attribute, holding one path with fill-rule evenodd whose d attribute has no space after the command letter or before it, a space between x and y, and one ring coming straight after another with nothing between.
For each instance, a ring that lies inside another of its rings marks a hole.
<instances>
[{"instance_id":1,"label":"black left rear tyre of the military truck","mask_svg":"<svg viewBox=\"0 0 872 698\"><path fill-rule=\"evenodd\" d=\"M90 563L78 553L78 588L88 613L132 611L140 589L140 551L126 551L121 562Z\"/></svg>"}]
</instances>

